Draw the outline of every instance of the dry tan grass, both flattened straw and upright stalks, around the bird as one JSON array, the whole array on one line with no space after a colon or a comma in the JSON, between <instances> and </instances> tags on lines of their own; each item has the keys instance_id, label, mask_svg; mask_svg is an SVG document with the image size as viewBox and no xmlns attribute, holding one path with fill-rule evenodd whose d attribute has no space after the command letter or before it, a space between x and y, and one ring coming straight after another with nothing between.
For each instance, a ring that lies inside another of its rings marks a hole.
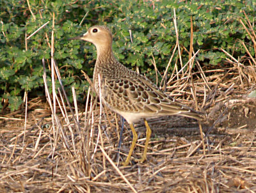
<instances>
[{"instance_id":1,"label":"dry tan grass, both flattened straw and upright stalks, around the bird","mask_svg":"<svg viewBox=\"0 0 256 193\"><path fill-rule=\"evenodd\" d=\"M248 33L256 38L248 26ZM51 69L61 81L53 43ZM176 48L186 51L178 44ZM172 75L166 71L168 81L162 81L161 88L207 113L203 131L212 130L204 143L195 120L152 119L147 162L120 166L131 144L128 125L118 157L120 117L100 107L90 90L83 110L76 102L74 108L65 105L63 91L49 95L45 83L47 104L41 98L27 100L25 112L6 114L0 120L2 192L255 192L256 105L254 98L247 97L255 89L254 59L248 55L237 61L223 50L225 67L210 69L195 63L192 68L193 48L188 52L189 62L179 71L176 61ZM144 130L141 123L136 128ZM135 158L143 150L144 132L139 137Z\"/></svg>"}]
</instances>

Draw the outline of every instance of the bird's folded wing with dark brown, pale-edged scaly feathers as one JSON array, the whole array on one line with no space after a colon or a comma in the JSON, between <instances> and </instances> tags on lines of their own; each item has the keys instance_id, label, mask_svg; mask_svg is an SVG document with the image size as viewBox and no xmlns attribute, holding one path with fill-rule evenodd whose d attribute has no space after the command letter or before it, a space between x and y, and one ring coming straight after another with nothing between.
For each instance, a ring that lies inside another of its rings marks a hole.
<instances>
[{"instance_id":1,"label":"bird's folded wing with dark brown, pale-edged scaly feathers","mask_svg":"<svg viewBox=\"0 0 256 193\"><path fill-rule=\"evenodd\" d=\"M136 73L136 77L106 79L102 96L112 109L127 112L145 112L148 114L182 115L201 119L196 112L176 102L163 93L147 78Z\"/></svg>"}]
</instances>

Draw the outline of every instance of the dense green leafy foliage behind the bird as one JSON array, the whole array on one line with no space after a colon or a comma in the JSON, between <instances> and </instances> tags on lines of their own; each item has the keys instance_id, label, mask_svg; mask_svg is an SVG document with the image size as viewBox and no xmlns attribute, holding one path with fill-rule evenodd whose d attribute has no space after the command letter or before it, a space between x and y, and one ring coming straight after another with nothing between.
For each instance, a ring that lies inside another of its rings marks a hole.
<instances>
[{"instance_id":1,"label":"dense green leafy foliage behind the bird","mask_svg":"<svg viewBox=\"0 0 256 193\"><path fill-rule=\"evenodd\" d=\"M252 41L239 23L239 19L244 18L243 10L251 21L255 20L255 1L29 0L29 4L35 19L27 1L0 1L0 100L8 100L12 111L22 104L24 91L44 95L42 58L47 61L47 66L51 66L49 43L53 13L54 58L65 88L70 91L71 86L75 86L79 100L83 100L86 89L81 70L92 76L96 52L91 43L68 41L67 38L81 35L94 24L111 28L114 34L113 50L120 62L134 69L139 66L141 72L153 79L152 56L158 70L163 72L176 43L173 8L176 10L180 47L184 49L184 63L188 61L186 50L190 46L191 17L193 48L200 49L196 59L204 65L216 65L223 61L225 55L220 48L233 53L235 58L244 54L245 50L238 40L247 43L251 54L255 55ZM80 26L79 22L87 12ZM48 21L49 24L29 38L26 50L25 35L28 37ZM49 68L47 82L51 86ZM3 104L0 104L0 110L2 108Z\"/></svg>"}]
</instances>

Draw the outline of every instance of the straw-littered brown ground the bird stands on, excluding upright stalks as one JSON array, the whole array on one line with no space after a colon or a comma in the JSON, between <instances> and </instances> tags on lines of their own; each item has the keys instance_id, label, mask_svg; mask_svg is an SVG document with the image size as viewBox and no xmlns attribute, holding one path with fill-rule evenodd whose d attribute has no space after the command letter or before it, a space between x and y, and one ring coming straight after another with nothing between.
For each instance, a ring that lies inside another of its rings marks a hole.
<instances>
[{"instance_id":1,"label":"straw-littered brown ground the bird stands on, excluding upright stalks","mask_svg":"<svg viewBox=\"0 0 256 193\"><path fill-rule=\"evenodd\" d=\"M202 121L204 133L215 124L214 121L219 119L219 123L204 139L205 155L197 121L179 116L156 118L148 121L153 132L147 161L140 164L132 159L131 166L119 164L119 171L138 192L255 192L255 100L236 99L231 104L216 105L211 112L211 117ZM50 129L51 111L44 102L39 100L28 111L25 138L24 111L10 114L10 117L19 120L2 118L0 122L0 188L3 192L132 192L99 148L101 144L116 162L119 130L115 127L115 119L111 119L110 127L102 127L101 139L98 138L99 130L96 127L93 130L91 141L94 145L89 148L89 164L84 159L88 152L81 147L85 145L81 138L86 138L88 132L83 116L80 117L84 135L72 127L76 151L64 125L69 147L61 139L61 131L54 138L54 132L58 131ZM118 116L117 120L120 123ZM99 116L95 115L95 125L97 121ZM132 157L140 158L145 127L142 122L135 127L140 140ZM125 123L120 161L125 160L131 139ZM77 154L72 155L74 153Z\"/></svg>"}]
</instances>

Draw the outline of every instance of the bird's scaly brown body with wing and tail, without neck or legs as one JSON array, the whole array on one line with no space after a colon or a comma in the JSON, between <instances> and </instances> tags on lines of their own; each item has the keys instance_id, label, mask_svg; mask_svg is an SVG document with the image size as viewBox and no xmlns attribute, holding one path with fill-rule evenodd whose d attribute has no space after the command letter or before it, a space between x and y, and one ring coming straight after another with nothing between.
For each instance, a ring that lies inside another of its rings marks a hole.
<instances>
[{"instance_id":1,"label":"bird's scaly brown body with wing and tail, without neck or legs","mask_svg":"<svg viewBox=\"0 0 256 193\"><path fill-rule=\"evenodd\" d=\"M175 114L202 119L200 112L175 101L146 77L117 61L108 65L108 68L95 69L95 88L99 92L100 77L102 100L110 109L124 116L128 122Z\"/></svg>"}]
</instances>

